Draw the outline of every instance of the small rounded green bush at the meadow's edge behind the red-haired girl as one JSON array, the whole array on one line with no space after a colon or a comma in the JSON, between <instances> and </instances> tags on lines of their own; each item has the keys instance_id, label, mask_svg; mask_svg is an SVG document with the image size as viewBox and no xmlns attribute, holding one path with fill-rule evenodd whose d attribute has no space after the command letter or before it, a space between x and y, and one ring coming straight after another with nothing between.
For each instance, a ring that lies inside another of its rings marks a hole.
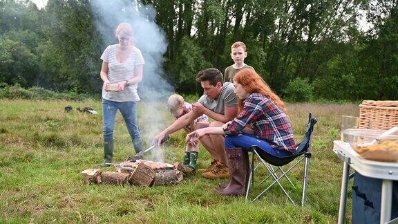
<instances>
[{"instance_id":1,"label":"small rounded green bush at the meadow's edge behind the red-haired girl","mask_svg":"<svg viewBox=\"0 0 398 224\"><path fill-rule=\"evenodd\" d=\"M308 102L312 100L314 88L307 79L296 78L287 84L283 91L285 97L292 102Z\"/></svg>"}]
</instances>

